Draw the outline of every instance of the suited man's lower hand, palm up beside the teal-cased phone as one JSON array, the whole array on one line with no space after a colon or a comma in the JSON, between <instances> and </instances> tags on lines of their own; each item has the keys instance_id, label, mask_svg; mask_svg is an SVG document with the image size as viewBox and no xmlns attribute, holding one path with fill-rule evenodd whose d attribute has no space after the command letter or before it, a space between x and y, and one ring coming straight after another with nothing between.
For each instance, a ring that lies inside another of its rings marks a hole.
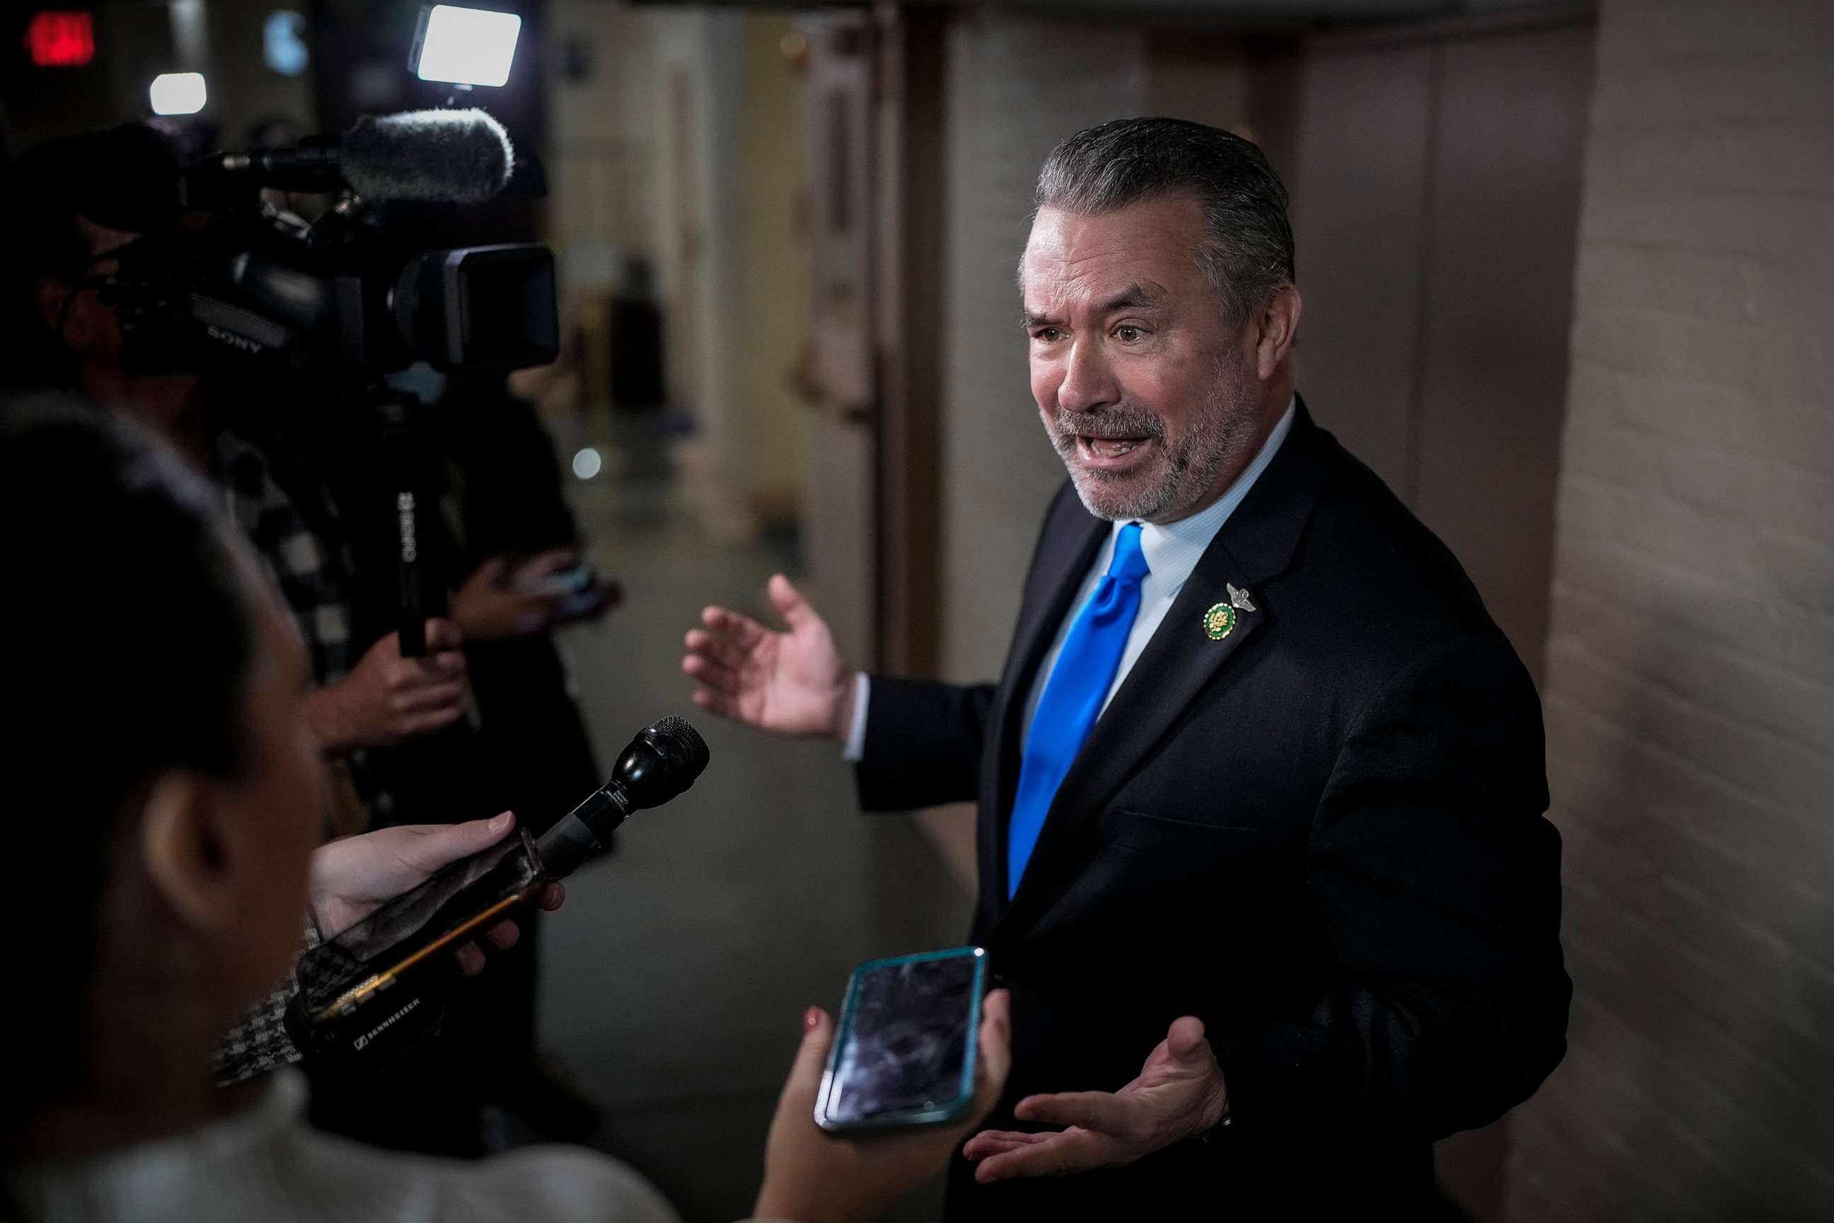
<instances>
[{"instance_id":1,"label":"suited man's lower hand, palm up beside the teal-cased phone","mask_svg":"<svg viewBox=\"0 0 1834 1223\"><path fill-rule=\"evenodd\" d=\"M1053 1177L1130 1164L1174 1142L1209 1133L1229 1111L1223 1071L1203 1019L1185 1016L1146 1058L1141 1076L1121 1091L1064 1091L1025 1096L1020 1120L1069 1126L1056 1133L983 1129L963 1155L979 1162L974 1179Z\"/></svg>"}]
</instances>

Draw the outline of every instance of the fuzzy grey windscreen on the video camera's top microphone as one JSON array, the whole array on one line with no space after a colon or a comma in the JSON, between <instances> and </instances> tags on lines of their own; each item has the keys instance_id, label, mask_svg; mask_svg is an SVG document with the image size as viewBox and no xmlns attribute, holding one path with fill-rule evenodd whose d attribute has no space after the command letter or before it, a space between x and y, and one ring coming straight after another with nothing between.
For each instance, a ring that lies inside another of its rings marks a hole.
<instances>
[{"instance_id":1,"label":"fuzzy grey windscreen on the video camera's top microphone","mask_svg":"<svg viewBox=\"0 0 1834 1223\"><path fill-rule=\"evenodd\" d=\"M358 119L337 160L367 200L482 204L510 182L515 149L482 110L405 110Z\"/></svg>"}]
</instances>

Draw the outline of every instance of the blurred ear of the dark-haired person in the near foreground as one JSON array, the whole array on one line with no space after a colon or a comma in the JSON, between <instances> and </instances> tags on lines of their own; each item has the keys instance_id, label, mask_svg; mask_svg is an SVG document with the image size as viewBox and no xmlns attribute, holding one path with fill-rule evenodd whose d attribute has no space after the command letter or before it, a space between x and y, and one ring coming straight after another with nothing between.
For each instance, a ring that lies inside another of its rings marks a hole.
<instances>
[{"instance_id":1,"label":"blurred ear of the dark-haired person in the near foreground","mask_svg":"<svg viewBox=\"0 0 1834 1223\"><path fill-rule=\"evenodd\" d=\"M231 838L209 777L185 768L160 776L141 809L139 853L154 891L180 920L213 935L235 926Z\"/></svg>"}]
</instances>

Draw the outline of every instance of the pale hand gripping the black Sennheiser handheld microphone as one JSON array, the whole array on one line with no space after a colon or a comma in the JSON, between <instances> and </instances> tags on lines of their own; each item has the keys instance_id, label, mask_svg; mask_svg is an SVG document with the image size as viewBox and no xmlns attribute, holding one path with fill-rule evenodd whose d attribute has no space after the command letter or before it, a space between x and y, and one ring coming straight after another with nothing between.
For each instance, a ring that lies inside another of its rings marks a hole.
<instances>
[{"instance_id":1,"label":"pale hand gripping the black Sennheiser handheld microphone","mask_svg":"<svg viewBox=\"0 0 1834 1223\"><path fill-rule=\"evenodd\" d=\"M312 853L306 902L312 920L326 935L336 935L363 920L383 902L418 887L458 858L490 849L515 827L515 816L468 823L411 823L319 845ZM558 909L567 889L548 884L536 898L543 909ZM515 946L521 931L514 920L497 922L484 941L501 950ZM457 952L458 968L473 975L484 968L484 952L466 942Z\"/></svg>"}]
</instances>

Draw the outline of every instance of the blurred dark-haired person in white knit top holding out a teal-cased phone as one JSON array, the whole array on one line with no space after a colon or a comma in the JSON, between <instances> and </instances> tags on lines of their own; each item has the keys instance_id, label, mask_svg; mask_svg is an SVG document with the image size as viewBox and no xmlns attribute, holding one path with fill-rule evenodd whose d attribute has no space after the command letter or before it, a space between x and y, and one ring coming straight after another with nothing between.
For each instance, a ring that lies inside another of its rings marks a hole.
<instances>
[{"instance_id":1,"label":"blurred dark-haired person in white knit top holding out a teal-cased phone","mask_svg":"<svg viewBox=\"0 0 1834 1223\"><path fill-rule=\"evenodd\" d=\"M13 1018L31 1056L0 1073L0 1217L673 1219L596 1153L389 1153L310 1129L293 1071L213 1087L216 1032L286 970L303 915L354 920L512 820L314 851L299 640L209 490L136 431L0 403L0 559L55 590L0 603L0 732L15 761L11 843L57 887L4 900L9 926L29 931L15 972L31 988ZM149 600L149 614L123 622L123 596ZM1005 1014L990 994L976 1118L1005 1078ZM937 1173L972 1122L823 1135L812 1109L833 1021L811 1008L803 1029L757 1216L867 1219Z\"/></svg>"}]
</instances>

